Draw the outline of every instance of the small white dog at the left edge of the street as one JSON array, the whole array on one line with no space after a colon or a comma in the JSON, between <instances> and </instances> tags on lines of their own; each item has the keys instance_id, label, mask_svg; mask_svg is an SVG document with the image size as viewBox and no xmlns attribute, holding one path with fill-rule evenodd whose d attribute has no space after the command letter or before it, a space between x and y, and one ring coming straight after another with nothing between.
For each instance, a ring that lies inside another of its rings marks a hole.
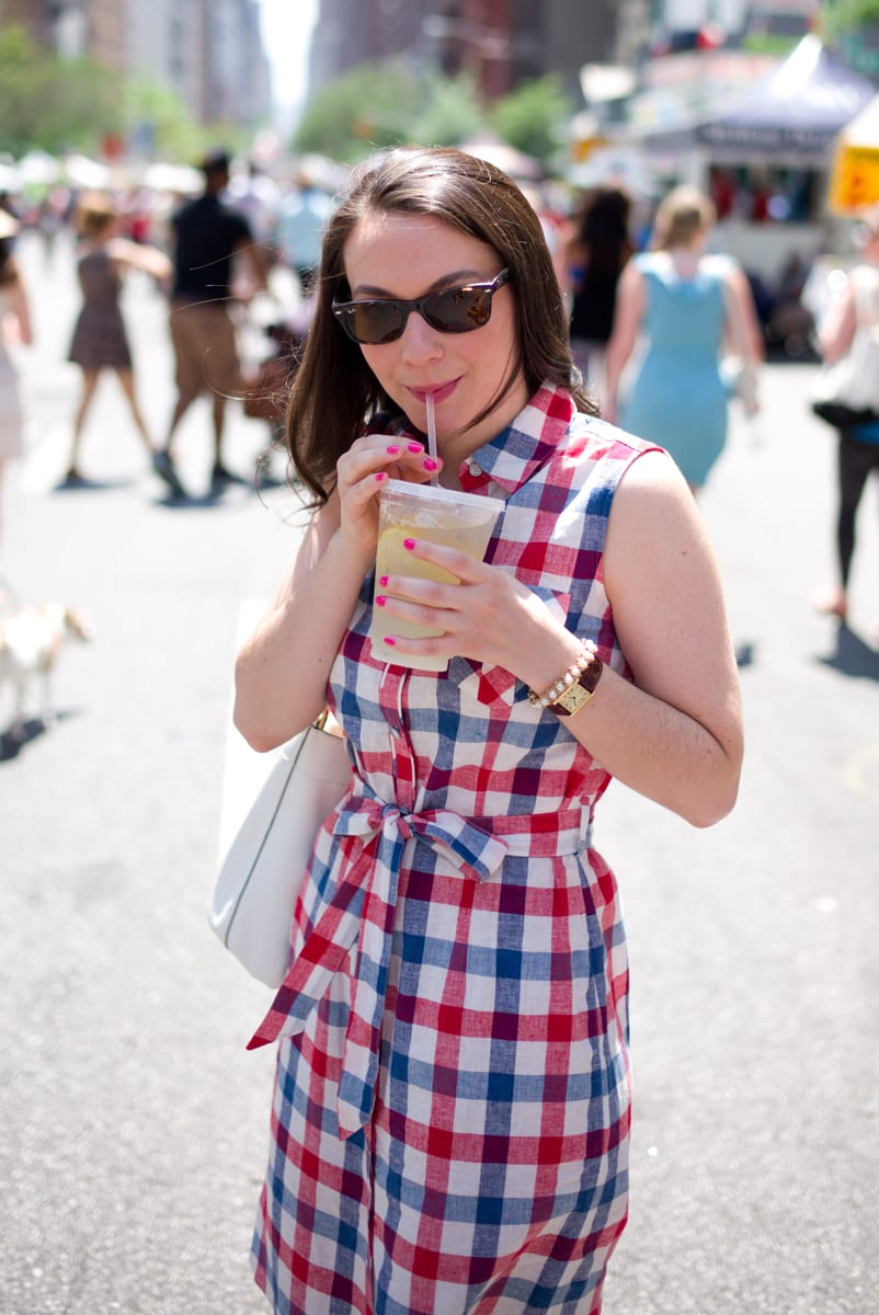
<instances>
[{"instance_id":1,"label":"small white dog at the left edge of the street","mask_svg":"<svg viewBox=\"0 0 879 1315\"><path fill-rule=\"evenodd\" d=\"M0 618L0 688L12 685L14 698L9 734L14 736L24 729L28 685L37 677L42 677L41 719L43 726L49 723L51 676L62 646L67 639L88 642L93 636L88 617L61 602L21 606Z\"/></svg>"}]
</instances>

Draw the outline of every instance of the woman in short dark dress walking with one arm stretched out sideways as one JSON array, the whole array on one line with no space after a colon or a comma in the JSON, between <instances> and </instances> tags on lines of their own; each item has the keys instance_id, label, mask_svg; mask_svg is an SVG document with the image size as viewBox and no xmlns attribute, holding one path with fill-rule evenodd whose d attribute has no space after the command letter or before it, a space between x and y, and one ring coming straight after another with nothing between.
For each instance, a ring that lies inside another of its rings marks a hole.
<instances>
[{"instance_id":1,"label":"woman in short dark dress walking with one arm stretched out sideways","mask_svg":"<svg viewBox=\"0 0 879 1315\"><path fill-rule=\"evenodd\" d=\"M158 247L120 237L122 214L103 192L86 192L76 206L76 276L83 304L76 317L67 359L79 366L82 393L70 450L70 464L62 480L66 488L87 483L79 468L86 419L100 376L112 370L125 393L132 419L150 460L155 447L137 401L134 366L125 320L120 305L122 280L129 270L141 270L158 283L171 277L171 262Z\"/></svg>"}]
</instances>

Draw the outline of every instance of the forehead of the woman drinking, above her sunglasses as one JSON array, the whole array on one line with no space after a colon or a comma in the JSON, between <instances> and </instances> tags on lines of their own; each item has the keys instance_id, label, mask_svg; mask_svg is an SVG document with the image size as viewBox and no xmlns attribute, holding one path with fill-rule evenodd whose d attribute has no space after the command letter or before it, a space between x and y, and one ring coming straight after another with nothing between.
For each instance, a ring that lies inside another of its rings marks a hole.
<instances>
[{"instance_id":1,"label":"forehead of the woman drinking, above her sunglasses","mask_svg":"<svg viewBox=\"0 0 879 1315\"><path fill-rule=\"evenodd\" d=\"M366 214L345 243L351 291L366 285L414 296L450 274L493 277L496 264L487 242L428 214Z\"/></svg>"}]
</instances>

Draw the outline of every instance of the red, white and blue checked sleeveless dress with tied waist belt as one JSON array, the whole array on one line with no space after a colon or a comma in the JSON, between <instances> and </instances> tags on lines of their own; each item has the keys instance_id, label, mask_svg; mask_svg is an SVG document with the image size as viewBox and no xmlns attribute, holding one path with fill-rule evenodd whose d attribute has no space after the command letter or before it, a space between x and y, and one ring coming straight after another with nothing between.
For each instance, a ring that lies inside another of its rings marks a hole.
<instances>
[{"instance_id":1,"label":"red, white and blue checked sleeveless dress with tied waist belt","mask_svg":"<svg viewBox=\"0 0 879 1315\"><path fill-rule=\"evenodd\" d=\"M622 673L601 554L646 448L545 387L462 468L507 500L488 558ZM284 1315L595 1315L629 1130L609 777L505 669L378 660L371 592L330 677L351 792L250 1043L283 1038L257 1282Z\"/></svg>"}]
</instances>

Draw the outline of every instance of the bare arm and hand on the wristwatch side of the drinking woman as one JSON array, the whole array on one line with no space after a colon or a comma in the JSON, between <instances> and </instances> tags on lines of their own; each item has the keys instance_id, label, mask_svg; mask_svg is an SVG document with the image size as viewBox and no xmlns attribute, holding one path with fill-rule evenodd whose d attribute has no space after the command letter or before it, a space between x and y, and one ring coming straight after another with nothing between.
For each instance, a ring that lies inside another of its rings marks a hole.
<instances>
[{"instance_id":1,"label":"bare arm and hand on the wristwatch side of the drinking woman","mask_svg":"<svg viewBox=\"0 0 879 1315\"><path fill-rule=\"evenodd\" d=\"M537 690L578 656L578 638L509 573L425 542L413 555L463 583L389 579L388 614L446 630L438 639L407 640L408 651L497 663ZM693 826L711 826L729 813L738 789L738 673L713 554L696 502L665 452L638 458L621 480L604 567L634 684L605 668L566 729L625 785Z\"/></svg>"}]
</instances>

